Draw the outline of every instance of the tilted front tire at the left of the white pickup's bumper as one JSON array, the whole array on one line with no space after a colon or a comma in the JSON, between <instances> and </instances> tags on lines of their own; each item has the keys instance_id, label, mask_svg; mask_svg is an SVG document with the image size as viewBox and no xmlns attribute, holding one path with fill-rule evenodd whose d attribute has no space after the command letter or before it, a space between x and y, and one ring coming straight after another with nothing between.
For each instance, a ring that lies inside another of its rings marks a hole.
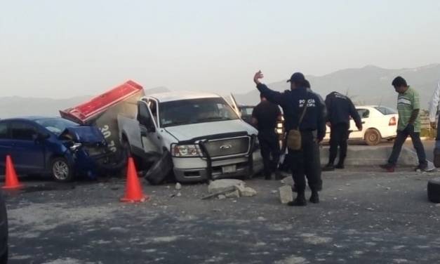
<instances>
[{"instance_id":1,"label":"tilted front tire at the left of the white pickup's bumper","mask_svg":"<svg viewBox=\"0 0 440 264\"><path fill-rule=\"evenodd\" d=\"M171 159L170 152L166 151L160 156L156 157L153 165L145 173L145 180L151 185L158 185L166 180L173 171L173 159Z\"/></svg>"}]
</instances>

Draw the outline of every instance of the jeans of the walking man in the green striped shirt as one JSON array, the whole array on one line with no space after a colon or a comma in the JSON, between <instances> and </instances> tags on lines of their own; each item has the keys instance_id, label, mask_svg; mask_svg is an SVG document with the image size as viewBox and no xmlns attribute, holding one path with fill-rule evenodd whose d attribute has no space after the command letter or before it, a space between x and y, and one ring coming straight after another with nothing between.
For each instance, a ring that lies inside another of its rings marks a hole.
<instances>
[{"instance_id":1,"label":"jeans of the walking man in the green striped shirt","mask_svg":"<svg viewBox=\"0 0 440 264\"><path fill-rule=\"evenodd\" d=\"M411 136L411 140L413 140L413 146L417 152L419 164L421 166L427 166L425 147L423 147L422 140L420 140L420 133L414 131L397 131L397 137L396 140L394 140L393 150L391 156L389 156L388 163L396 165L402 150L402 145L404 145L408 136Z\"/></svg>"}]
</instances>

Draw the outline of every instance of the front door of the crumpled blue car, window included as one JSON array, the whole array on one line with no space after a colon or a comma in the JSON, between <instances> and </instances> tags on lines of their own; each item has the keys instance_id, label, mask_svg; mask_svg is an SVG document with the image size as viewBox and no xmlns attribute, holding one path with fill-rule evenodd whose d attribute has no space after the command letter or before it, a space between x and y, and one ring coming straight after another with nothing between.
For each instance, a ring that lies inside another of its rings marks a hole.
<instances>
[{"instance_id":1,"label":"front door of the crumpled blue car, window included","mask_svg":"<svg viewBox=\"0 0 440 264\"><path fill-rule=\"evenodd\" d=\"M38 130L30 121L12 121L13 158L15 169L22 173L44 170L44 142L36 140Z\"/></svg>"}]
</instances>

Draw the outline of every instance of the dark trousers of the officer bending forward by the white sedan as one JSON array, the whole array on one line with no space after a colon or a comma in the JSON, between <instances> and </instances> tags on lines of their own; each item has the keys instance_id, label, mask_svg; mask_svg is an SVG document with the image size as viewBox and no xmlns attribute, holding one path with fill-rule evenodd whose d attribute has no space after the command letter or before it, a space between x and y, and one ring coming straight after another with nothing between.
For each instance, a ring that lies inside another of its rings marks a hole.
<instances>
[{"instance_id":1,"label":"dark trousers of the officer bending forward by the white sedan","mask_svg":"<svg viewBox=\"0 0 440 264\"><path fill-rule=\"evenodd\" d=\"M347 140L349 136L348 124L332 124L330 131L330 155L328 156L328 164L334 164L338 154L339 147L339 163L344 164L347 157Z\"/></svg>"}]
</instances>

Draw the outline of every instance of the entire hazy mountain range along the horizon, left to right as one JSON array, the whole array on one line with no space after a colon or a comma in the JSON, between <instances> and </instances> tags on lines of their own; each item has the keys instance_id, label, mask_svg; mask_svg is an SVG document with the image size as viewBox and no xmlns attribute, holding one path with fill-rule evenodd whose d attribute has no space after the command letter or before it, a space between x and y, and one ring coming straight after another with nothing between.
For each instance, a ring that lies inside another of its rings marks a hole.
<instances>
[{"instance_id":1,"label":"entire hazy mountain range along the horizon, left to right","mask_svg":"<svg viewBox=\"0 0 440 264\"><path fill-rule=\"evenodd\" d=\"M432 93L434 93L440 79L440 64L399 70L366 66L339 70L319 77L313 75L306 77L312 85L312 90L323 98L332 91L339 91L352 98L356 105L385 105L395 108L396 92L392 88L391 82L394 77L399 75L404 77L408 84L420 93L420 105L422 109L427 109ZM250 87L252 86L253 84L250 84ZM289 88L286 80L270 83L267 86L276 91L285 91ZM236 101L240 105L255 105L260 100L256 88L249 88L249 90L246 93L234 93ZM145 89L146 94L166 91L169 90L165 87ZM56 116L58 110L84 103L91 97L91 95L69 99L4 97L0 98L0 118L31 114Z\"/></svg>"}]
</instances>

